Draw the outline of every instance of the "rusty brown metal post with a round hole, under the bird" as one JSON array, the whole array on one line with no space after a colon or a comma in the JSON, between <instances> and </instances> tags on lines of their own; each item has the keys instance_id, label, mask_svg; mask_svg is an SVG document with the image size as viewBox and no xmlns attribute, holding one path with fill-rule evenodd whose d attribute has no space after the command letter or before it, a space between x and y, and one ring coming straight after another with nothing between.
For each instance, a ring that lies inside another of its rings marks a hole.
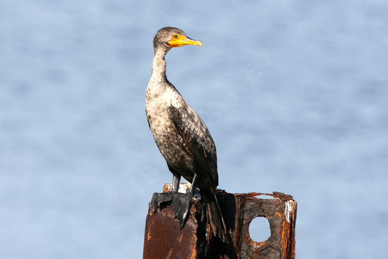
<instances>
[{"instance_id":1,"label":"rusty brown metal post with a round hole, under the bird","mask_svg":"<svg viewBox=\"0 0 388 259\"><path fill-rule=\"evenodd\" d=\"M187 183L184 189L187 189ZM166 184L163 191L169 191ZM255 196L271 195L274 199ZM180 229L170 206L152 213L149 204L144 238L144 259L294 259L297 203L281 192L227 193L217 198L229 232L229 242L214 237L202 213L202 203L193 198L186 225ZM270 223L271 236L255 242L249 236L249 224L256 217Z\"/></svg>"}]
</instances>

